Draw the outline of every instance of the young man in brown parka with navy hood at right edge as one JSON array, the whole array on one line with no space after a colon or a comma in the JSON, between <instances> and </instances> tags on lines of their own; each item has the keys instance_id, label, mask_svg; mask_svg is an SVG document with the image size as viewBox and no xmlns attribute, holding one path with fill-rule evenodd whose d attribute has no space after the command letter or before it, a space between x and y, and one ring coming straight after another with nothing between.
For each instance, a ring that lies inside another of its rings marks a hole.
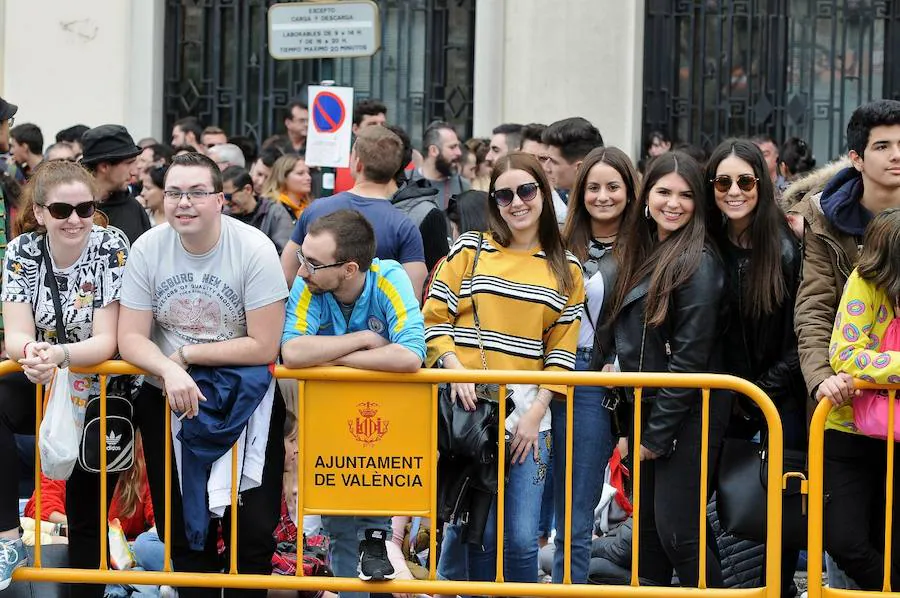
<instances>
[{"instance_id":1,"label":"young man in brown parka with navy hood at right edge","mask_svg":"<svg viewBox=\"0 0 900 598\"><path fill-rule=\"evenodd\" d=\"M866 226L883 210L900 207L900 102L877 100L857 108L847 125L847 144L849 165L826 167L802 181L806 195L789 210L803 219L794 320L800 366L813 402L835 405L853 397L852 378L835 374L829 361L837 305ZM789 188L786 197L795 192ZM863 589L881 587L883 567L870 538L884 533L883 519L880 528L874 523L879 509L884 516L883 494L879 504L871 488L879 480L883 487L885 454L873 442L884 446L855 430L825 432L825 548Z\"/></svg>"}]
</instances>

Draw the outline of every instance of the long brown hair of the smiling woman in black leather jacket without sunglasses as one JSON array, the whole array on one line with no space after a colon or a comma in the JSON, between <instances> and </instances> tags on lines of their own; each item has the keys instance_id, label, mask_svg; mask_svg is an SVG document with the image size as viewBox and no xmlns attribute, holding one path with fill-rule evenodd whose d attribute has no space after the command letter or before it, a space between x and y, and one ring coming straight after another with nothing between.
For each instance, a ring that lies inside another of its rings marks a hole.
<instances>
[{"instance_id":1,"label":"long brown hair of the smiling woman in black leather jacket without sunglasses","mask_svg":"<svg viewBox=\"0 0 900 598\"><path fill-rule=\"evenodd\" d=\"M681 229L665 241L659 241L656 222L644 216L644 209L653 187L672 173L684 179L691 190L694 213ZM648 276L650 289L644 321L650 326L660 326L666 321L669 297L697 271L707 242L703 191L703 169L687 154L667 152L651 161L640 198L628 206L621 229L626 234L618 242L620 261L613 295L613 321L622 311L628 292Z\"/></svg>"}]
</instances>

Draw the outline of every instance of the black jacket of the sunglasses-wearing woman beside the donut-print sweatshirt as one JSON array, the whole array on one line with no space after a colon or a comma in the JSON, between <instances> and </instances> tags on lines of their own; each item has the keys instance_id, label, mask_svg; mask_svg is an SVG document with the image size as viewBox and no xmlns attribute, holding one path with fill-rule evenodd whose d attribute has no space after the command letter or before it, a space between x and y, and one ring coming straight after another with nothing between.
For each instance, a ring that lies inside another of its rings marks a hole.
<instances>
[{"instance_id":1,"label":"black jacket of the sunglasses-wearing woman beside the donut-print sweatshirt","mask_svg":"<svg viewBox=\"0 0 900 598\"><path fill-rule=\"evenodd\" d=\"M787 297L771 314L760 318L743 313L740 289L750 272L752 250L725 241L721 244L727 277L726 318L723 322L725 371L750 380L763 389L780 411L802 409L806 386L800 371L797 336L794 333L794 302L800 285L803 258L796 239L781 231L781 267Z\"/></svg>"}]
</instances>

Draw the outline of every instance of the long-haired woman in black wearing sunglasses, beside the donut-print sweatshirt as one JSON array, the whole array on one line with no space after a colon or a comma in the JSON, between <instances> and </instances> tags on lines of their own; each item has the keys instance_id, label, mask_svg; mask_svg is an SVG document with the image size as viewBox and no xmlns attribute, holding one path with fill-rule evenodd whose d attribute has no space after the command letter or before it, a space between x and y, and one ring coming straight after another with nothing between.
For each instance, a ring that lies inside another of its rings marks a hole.
<instances>
[{"instance_id":1,"label":"long-haired woman in black wearing sunglasses, beside the donut-print sweatshirt","mask_svg":"<svg viewBox=\"0 0 900 598\"><path fill-rule=\"evenodd\" d=\"M784 448L806 450L806 396L794 301L802 257L784 212L775 201L760 149L744 139L717 147L706 166L709 231L725 266L722 322L725 372L750 380L775 403L784 426ZM754 403L739 399L729 436L751 439L766 433ZM782 596L792 588L798 551L782 560Z\"/></svg>"}]
</instances>

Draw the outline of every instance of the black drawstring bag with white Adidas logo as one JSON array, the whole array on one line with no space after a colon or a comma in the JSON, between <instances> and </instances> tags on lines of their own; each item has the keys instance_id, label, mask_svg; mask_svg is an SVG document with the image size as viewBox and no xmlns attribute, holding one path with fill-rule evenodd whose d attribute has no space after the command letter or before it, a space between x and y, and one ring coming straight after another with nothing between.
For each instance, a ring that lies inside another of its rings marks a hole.
<instances>
[{"instance_id":1,"label":"black drawstring bag with white Adidas logo","mask_svg":"<svg viewBox=\"0 0 900 598\"><path fill-rule=\"evenodd\" d=\"M134 406L130 400L131 376L110 377L106 386L106 471L117 473L134 464ZM78 466L100 472L100 397L88 400Z\"/></svg>"}]
</instances>

